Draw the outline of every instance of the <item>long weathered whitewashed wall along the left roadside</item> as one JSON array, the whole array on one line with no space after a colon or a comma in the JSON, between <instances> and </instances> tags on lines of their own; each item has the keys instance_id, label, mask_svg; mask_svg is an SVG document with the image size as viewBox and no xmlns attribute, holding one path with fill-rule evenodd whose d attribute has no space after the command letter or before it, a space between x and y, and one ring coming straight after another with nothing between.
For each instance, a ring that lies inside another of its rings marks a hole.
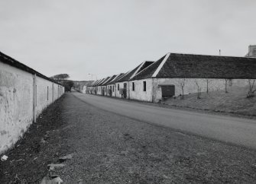
<instances>
[{"instance_id":1,"label":"long weathered whitewashed wall along the left roadside","mask_svg":"<svg viewBox=\"0 0 256 184\"><path fill-rule=\"evenodd\" d=\"M60 84L0 61L0 154L63 93Z\"/></svg>"}]
</instances>

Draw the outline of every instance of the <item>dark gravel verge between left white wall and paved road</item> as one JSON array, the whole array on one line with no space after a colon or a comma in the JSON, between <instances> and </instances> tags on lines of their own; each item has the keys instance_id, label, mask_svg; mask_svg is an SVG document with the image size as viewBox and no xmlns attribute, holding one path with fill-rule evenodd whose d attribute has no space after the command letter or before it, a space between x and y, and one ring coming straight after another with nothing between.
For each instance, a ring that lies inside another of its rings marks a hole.
<instances>
[{"instance_id":1,"label":"dark gravel verge between left white wall and paved road","mask_svg":"<svg viewBox=\"0 0 256 184\"><path fill-rule=\"evenodd\" d=\"M41 144L42 138L47 143ZM256 180L254 150L118 116L73 94L46 109L5 154L9 158L0 165L0 183L38 183L47 174L47 164L66 154L73 158L58 170L65 183Z\"/></svg>"}]
</instances>

